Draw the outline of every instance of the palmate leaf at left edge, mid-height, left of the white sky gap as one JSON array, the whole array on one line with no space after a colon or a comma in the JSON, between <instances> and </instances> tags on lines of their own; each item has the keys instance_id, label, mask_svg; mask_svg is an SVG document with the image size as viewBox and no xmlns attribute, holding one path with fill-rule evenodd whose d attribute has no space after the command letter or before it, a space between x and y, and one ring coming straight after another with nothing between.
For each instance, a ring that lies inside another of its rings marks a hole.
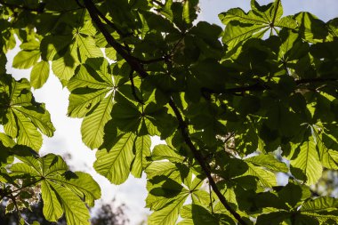
<instances>
[{"instance_id":1,"label":"palmate leaf at left edge, mid-height, left of the white sky gap","mask_svg":"<svg viewBox=\"0 0 338 225\"><path fill-rule=\"evenodd\" d=\"M9 86L5 91L8 98L4 103L4 132L17 139L18 144L27 145L37 151L42 145L41 133L51 137L55 131L50 114L44 104L36 103L26 79L16 81L11 76L7 78L7 81L0 81L1 84Z\"/></svg>"}]
</instances>

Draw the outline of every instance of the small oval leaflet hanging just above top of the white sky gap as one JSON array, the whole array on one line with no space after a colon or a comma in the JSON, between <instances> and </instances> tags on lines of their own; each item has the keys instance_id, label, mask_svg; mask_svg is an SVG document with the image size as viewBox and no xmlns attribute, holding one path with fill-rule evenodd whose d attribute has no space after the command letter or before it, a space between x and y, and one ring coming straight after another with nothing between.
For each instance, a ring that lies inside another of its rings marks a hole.
<instances>
[{"instance_id":1,"label":"small oval leaflet hanging just above top of the white sky gap","mask_svg":"<svg viewBox=\"0 0 338 225\"><path fill-rule=\"evenodd\" d=\"M30 72L30 84L36 89L42 87L49 76L49 62L40 61L32 68Z\"/></svg>"}]
</instances>

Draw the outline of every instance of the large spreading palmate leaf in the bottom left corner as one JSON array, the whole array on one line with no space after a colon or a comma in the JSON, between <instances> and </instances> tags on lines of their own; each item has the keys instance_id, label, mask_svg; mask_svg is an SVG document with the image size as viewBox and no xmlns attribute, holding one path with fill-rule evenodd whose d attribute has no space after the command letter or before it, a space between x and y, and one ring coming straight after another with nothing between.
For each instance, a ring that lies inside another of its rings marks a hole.
<instances>
[{"instance_id":1,"label":"large spreading palmate leaf in the bottom left corner","mask_svg":"<svg viewBox=\"0 0 338 225\"><path fill-rule=\"evenodd\" d=\"M87 205L101 197L99 185L82 172L72 173L59 156L18 157L22 163L12 165L12 176L34 178L31 185L41 184L43 213L48 221L58 221L65 213L70 225L90 224Z\"/></svg>"}]
</instances>

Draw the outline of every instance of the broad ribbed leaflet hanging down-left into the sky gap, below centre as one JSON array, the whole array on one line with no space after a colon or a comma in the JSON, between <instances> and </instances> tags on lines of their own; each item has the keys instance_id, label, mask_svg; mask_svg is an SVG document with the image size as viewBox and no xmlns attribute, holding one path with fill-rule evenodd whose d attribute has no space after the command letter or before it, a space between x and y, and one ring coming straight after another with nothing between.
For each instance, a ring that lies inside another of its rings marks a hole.
<instances>
[{"instance_id":1,"label":"broad ribbed leaflet hanging down-left into the sky gap, below centre","mask_svg":"<svg viewBox=\"0 0 338 225\"><path fill-rule=\"evenodd\" d=\"M123 134L111 149L96 152L94 169L114 184L121 184L128 178L133 162L135 134Z\"/></svg>"}]
</instances>

